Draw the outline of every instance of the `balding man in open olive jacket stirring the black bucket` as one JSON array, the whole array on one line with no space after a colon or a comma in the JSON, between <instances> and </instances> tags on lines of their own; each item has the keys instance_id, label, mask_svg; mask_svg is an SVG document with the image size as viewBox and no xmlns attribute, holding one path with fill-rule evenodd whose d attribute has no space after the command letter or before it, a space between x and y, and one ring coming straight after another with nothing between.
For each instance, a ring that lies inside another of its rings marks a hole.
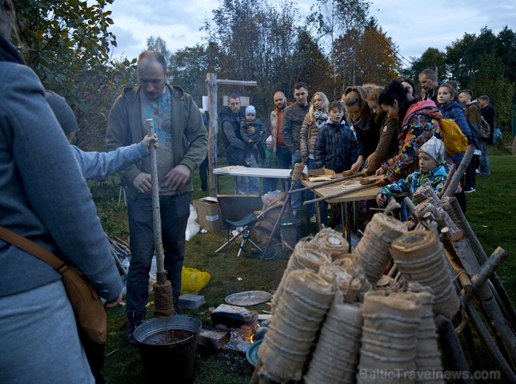
<instances>
[{"instance_id":1,"label":"balding man in open olive jacket stirring the black bucket","mask_svg":"<svg viewBox=\"0 0 516 384\"><path fill-rule=\"evenodd\" d=\"M167 280L172 282L174 309L179 311L181 270L185 256L185 230L190 215L192 175L206 157L208 136L199 108L188 93L169 86L165 57L145 51L138 58L139 86L126 88L116 98L106 134L108 151L139 143L148 134L146 120L153 119L158 136L156 159L160 189L162 242ZM149 271L154 254L149 158L121 172L128 188L131 262L127 278L127 340L145 318Z\"/></svg>"}]
</instances>

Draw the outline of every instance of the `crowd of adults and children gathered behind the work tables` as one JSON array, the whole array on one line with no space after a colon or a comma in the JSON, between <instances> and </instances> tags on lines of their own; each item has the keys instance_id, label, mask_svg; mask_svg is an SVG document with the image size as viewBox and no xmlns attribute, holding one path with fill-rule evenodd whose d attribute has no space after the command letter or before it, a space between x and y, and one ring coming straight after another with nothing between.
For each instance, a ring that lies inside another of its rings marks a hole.
<instances>
[{"instance_id":1,"label":"crowd of adults and children gathered behind the work tables","mask_svg":"<svg viewBox=\"0 0 516 384\"><path fill-rule=\"evenodd\" d=\"M335 173L363 172L377 175L377 185L386 186L420 170L420 148L430 138L443 139L441 118L453 119L468 143L476 146L475 156L455 193L465 212L464 193L476 191L476 175L490 175L487 145L492 143L494 110L489 97L473 99L471 90L458 89L455 81L438 81L431 69L420 73L419 83L421 95L412 81L400 79L385 86L349 86L335 102L330 102L320 91L310 97L307 84L298 82L294 84L291 104L282 91L274 94L275 107L269 117L268 134L259 136L247 129L256 138L268 136L268 149L273 154L271 166L294 168L296 163L304 163L309 170L330 168ZM255 141L249 141L245 130L238 129L238 121L241 127L248 127L245 124L248 110L243 113L240 104L238 95L230 95L228 106L220 113L228 163L258 166ZM340 120L336 121L339 107ZM254 107L252 111L255 115ZM485 122L488 131L482 133ZM246 154L247 158L251 154L255 159L245 160ZM450 170L453 163L458 166L463 157L464 152L444 154L443 172ZM262 161L262 166L269 166L269 161ZM258 180L250 179L254 180L239 183L239 193L259 193ZM264 182L264 193L271 191L271 187ZM299 183L293 186L293 189L299 188ZM292 195L291 209L296 216L300 215L302 199L302 193ZM322 221L326 224L324 205L321 208ZM308 206L308 217L315 221L313 205Z\"/></svg>"}]
</instances>

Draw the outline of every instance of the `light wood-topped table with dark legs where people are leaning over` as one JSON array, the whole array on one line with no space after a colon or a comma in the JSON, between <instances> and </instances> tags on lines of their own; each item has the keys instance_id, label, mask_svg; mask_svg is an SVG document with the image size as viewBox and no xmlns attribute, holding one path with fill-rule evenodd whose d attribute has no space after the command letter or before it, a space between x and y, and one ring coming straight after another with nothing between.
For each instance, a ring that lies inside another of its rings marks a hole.
<instances>
[{"instance_id":1,"label":"light wood-topped table with dark legs where people are leaning over","mask_svg":"<svg viewBox=\"0 0 516 384\"><path fill-rule=\"evenodd\" d=\"M312 189L312 192L317 195L318 198L324 198L325 196L334 195L335 193L346 191L347 189L354 189L360 184L361 177L347 180L346 182L339 184L331 184L328 186L322 186L321 188ZM309 182L308 180L302 180L303 186L317 185L316 183ZM342 222L342 235L349 243L349 252L351 253L351 223L354 224L354 228L358 227L358 201L360 200L372 200L377 197L377 193L381 187L372 186L362 191L348 193L338 198L329 198L326 202L331 204L340 204L340 218ZM321 230L321 213L319 211L319 203L315 203L315 214L317 217L317 230Z\"/></svg>"}]
</instances>

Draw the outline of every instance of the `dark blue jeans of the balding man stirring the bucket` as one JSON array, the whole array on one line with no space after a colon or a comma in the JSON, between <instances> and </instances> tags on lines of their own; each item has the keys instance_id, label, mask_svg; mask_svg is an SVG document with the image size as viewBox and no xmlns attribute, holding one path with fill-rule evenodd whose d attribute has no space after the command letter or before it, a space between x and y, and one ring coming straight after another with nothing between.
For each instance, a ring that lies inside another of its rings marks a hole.
<instances>
[{"instance_id":1,"label":"dark blue jeans of the balding man stirring the bucket","mask_svg":"<svg viewBox=\"0 0 516 384\"><path fill-rule=\"evenodd\" d=\"M161 237L165 271L172 283L174 301L181 294L181 271L185 258L185 231L190 216L192 192L160 196ZM131 262L127 275L126 312L145 312L149 298L149 271L154 255L152 197L139 193L128 199Z\"/></svg>"}]
</instances>

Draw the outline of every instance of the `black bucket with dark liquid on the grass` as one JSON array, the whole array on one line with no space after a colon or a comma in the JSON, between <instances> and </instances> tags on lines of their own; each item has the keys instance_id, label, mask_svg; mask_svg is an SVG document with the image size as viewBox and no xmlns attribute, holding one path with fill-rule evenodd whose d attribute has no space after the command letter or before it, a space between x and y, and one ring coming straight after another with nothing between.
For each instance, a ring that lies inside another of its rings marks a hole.
<instances>
[{"instance_id":1,"label":"black bucket with dark liquid on the grass","mask_svg":"<svg viewBox=\"0 0 516 384\"><path fill-rule=\"evenodd\" d=\"M176 314L169 319L151 319L136 328L134 335L149 383L195 381L201 326L195 317Z\"/></svg>"}]
</instances>

